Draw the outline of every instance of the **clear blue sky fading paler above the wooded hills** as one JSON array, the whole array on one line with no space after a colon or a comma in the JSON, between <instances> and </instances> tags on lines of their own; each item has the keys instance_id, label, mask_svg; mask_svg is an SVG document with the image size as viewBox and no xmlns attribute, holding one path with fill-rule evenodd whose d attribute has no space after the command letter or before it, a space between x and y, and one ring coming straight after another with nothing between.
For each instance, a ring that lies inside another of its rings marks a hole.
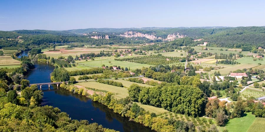
<instances>
[{"instance_id":1,"label":"clear blue sky fading paler above the wooded hills","mask_svg":"<svg viewBox=\"0 0 265 132\"><path fill-rule=\"evenodd\" d=\"M264 0L1 0L0 31L265 26Z\"/></svg>"}]
</instances>

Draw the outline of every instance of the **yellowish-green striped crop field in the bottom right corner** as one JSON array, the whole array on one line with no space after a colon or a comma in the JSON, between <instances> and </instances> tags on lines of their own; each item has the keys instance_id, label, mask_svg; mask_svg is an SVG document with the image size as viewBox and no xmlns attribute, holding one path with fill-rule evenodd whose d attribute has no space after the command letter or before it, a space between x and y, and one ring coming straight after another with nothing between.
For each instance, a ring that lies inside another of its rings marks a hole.
<instances>
[{"instance_id":1,"label":"yellowish-green striped crop field in the bottom right corner","mask_svg":"<svg viewBox=\"0 0 265 132\"><path fill-rule=\"evenodd\" d=\"M256 117L252 125L249 127L248 132L261 132L264 131L265 118Z\"/></svg>"}]
</instances>

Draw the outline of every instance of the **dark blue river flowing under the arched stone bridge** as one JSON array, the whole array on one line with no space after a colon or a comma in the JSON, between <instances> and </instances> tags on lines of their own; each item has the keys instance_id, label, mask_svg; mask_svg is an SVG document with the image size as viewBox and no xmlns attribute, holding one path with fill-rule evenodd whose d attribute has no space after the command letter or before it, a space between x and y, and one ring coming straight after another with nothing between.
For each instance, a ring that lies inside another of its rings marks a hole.
<instances>
[{"instance_id":1,"label":"dark blue river flowing under the arched stone bridge","mask_svg":"<svg viewBox=\"0 0 265 132\"><path fill-rule=\"evenodd\" d=\"M51 82L50 73L53 69L52 65L36 62L35 69L29 72L25 79L28 79L31 84ZM73 94L62 88L57 89L56 85L51 85L51 90L48 89L48 85L42 85L42 91L44 93L42 106L58 107L61 111L69 114L72 119L96 122L105 128L121 132L153 132L140 123L129 121L128 118L114 113L103 104L93 102L87 97Z\"/></svg>"}]
</instances>

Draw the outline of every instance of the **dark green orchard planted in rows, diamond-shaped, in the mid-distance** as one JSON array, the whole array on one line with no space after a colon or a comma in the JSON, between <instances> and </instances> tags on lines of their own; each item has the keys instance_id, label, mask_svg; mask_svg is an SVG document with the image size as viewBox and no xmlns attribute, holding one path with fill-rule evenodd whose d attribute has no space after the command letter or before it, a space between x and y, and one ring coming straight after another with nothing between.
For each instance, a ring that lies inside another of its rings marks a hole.
<instances>
[{"instance_id":1,"label":"dark green orchard planted in rows, diamond-shaped, in the mid-distance","mask_svg":"<svg viewBox=\"0 0 265 132\"><path fill-rule=\"evenodd\" d=\"M166 57L166 56L162 56L161 54L158 54L158 55L123 58L123 59L115 59L115 60L135 62L135 63L141 63L141 64L149 64L149 65L165 65L165 64L175 63L175 62L185 62L186 58L185 57Z\"/></svg>"}]
</instances>

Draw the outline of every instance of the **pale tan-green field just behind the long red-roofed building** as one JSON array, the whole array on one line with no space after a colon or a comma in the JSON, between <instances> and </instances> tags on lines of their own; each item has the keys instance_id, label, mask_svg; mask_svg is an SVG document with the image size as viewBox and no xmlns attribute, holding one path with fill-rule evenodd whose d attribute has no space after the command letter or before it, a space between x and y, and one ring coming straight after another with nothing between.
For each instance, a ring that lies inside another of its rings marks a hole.
<instances>
[{"instance_id":1,"label":"pale tan-green field just behind the long red-roofed building","mask_svg":"<svg viewBox=\"0 0 265 132\"><path fill-rule=\"evenodd\" d=\"M256 67L256 66L258 66L258 65L256 65L256 64L249 64L249 65L245 65L245 64L231 65L231 67L227 67L227 68L223 68L223 69L219 69L219 70L212 70L210 72L210 74L213 74L214 71L220 71L221 75L227 75L227 74L229 74L229 72L233 72L233 71L238 70L238 69L240 69L240 70L242 70L244 68L249 69L251 67Z\"/></svg>"}]
</instances>

